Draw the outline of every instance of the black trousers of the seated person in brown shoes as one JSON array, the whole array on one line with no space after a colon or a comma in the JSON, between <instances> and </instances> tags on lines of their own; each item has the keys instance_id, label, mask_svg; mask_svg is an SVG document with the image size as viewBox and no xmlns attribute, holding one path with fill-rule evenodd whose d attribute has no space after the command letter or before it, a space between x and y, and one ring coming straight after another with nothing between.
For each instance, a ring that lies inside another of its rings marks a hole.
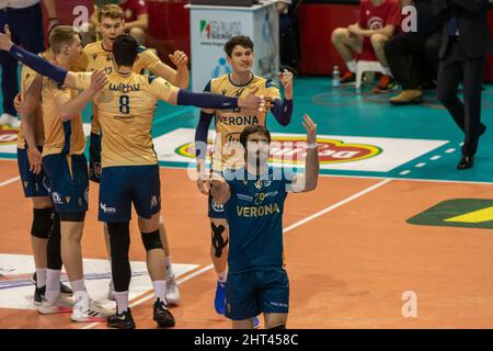
<instances>
[{"instance_id":1,"label":"black trousers of the seated person in brown shoes","mask_svg":"<svg viewBox=\"0 0 493 351\"><path fill-rule=\"evenodd\" d=\"M440 42L442 29L426 35L399 34L386 43L390 71L403 89L420 89L436 79Z\"/></svg>"}]
</instances>

